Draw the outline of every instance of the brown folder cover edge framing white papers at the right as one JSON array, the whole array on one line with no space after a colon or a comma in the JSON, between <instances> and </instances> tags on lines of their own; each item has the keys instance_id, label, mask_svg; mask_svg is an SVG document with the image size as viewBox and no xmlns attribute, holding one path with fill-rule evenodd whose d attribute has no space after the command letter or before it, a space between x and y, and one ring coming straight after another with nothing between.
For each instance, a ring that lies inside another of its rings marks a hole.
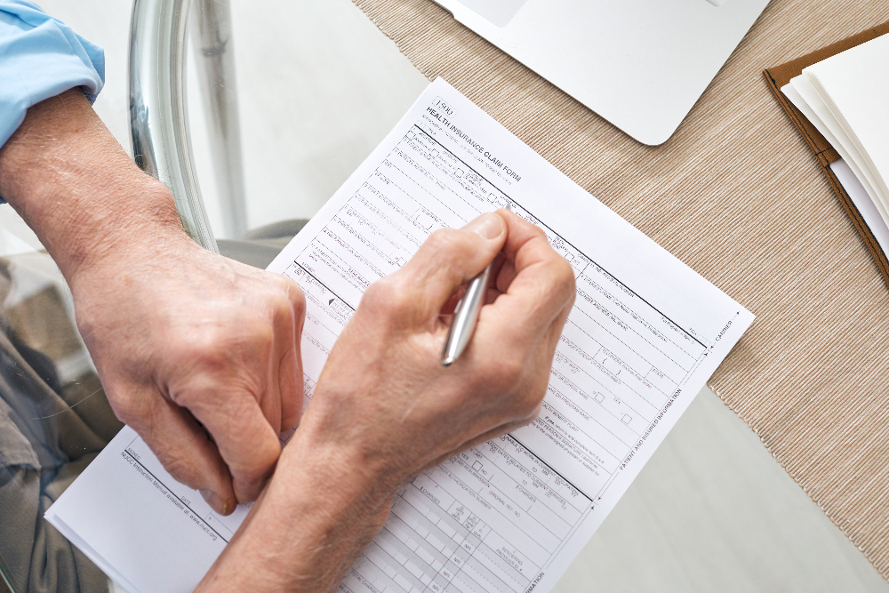
<instances>
[{"instance_id":1,"label":"brown folder cover edge framing white papers at the right","mask_svg":"<svg viewBox=\"0 0 889 593\"><path fill-rule=\"evenodd\" d=\"M837 176L834 175L834 172L830 169L829 165L834 161L839 160L839 154L837 154L837 151L824 139L821 132L818 132L818 130L815 129L815 126L813 126L800 110L784 96L783 92L781 92L781 87L788 84L791 78L801 75L803 73L803 68L812 66L832 55L839 52L845 52L845 50L852 48L855 45L861 45L878 36L885 35L886 33L889 33L889 20L882 25L869 28L857 35L846 37L844 40L838 41L836 44L830 44L816 52L807 53L805 56L797 58L796 60L790 60L785 64L781 64L781 66L765 68L765 70L763 70L763 76L765 76L766 84L772 89L775 99L777 99L781 104L781 107L784 108L790 121L797 126L797 130L803 135L809 148L812 148L812 152L814 153L815 158L818 159L818 163L821 164L821 170L827 175L827 178L830 181L830 186L837 194L840 204L843 205L845 212L849 215L849 218L852 219L855 228L858 230L861 238L864 239L864 244L867 246L868 251L877 262L877 268L879 268L880 272L883 274L885 283L889 285L889 260L886 260L885 252L883 252L880 244L877 243L877 238L870 231L870 228L868 228L864 219L861 218L861 212L858 212L858 208L853 204L852 198L845 192L842 184L837 180Z\"/></svg>"}]
</instances>

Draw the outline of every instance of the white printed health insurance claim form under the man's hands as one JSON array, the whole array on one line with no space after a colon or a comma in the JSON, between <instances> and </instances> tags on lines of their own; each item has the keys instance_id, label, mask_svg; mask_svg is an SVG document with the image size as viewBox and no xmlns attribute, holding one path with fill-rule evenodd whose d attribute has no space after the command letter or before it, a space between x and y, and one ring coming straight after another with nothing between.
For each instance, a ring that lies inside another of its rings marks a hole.
<instances>
[{"instance_id":1,"label":"white printed health insurance claim form under the man's hands","mask_svg":"<svg viewBox=\"0 0 889 593\"><path fill-rule=\"evenodd\" d=\"M546 593L753 320L438 79L269 267L306 294L307 403L374 280L507 205L577 278L541 415L405 485L343 593ZM124 429L47 516L148 593L194 587L245 513L213 514Z\"/></svg>"}]
</instances>

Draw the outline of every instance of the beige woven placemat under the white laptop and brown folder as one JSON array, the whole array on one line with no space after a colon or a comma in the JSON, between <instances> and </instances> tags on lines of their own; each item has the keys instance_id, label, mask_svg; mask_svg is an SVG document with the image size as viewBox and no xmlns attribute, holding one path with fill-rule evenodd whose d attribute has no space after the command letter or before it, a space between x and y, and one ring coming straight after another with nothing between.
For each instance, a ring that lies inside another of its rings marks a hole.
<instances>
[{"instance_id":1,"label":"beige woven placemat under the white laptop and brown folder","mask_svg":"<svg viewBox=\"0 0 889 593\"><path fill-rule=\"evenodd\" d=\"M658 148L430 0L355 2L426 76L757 315L710 387L889 577L889 290L760 74L889 19L889 1L773 0Z\"/></svg>"}]
</instances>

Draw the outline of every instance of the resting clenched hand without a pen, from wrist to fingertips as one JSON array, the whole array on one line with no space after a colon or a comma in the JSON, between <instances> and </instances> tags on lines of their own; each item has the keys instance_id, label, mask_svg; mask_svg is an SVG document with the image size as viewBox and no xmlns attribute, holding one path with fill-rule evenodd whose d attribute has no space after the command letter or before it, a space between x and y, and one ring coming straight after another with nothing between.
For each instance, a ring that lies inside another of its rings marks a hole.
<instances>
[{"instance_id":1,"label":"resting clenched hand without a pen, from wrist to fingertips","mask_svg":"<svg viewBox=\"0 0 889 593\"><path fill-rule=\"evenodd\" d=\"M302 410L300 287L182 234L84 267L71 287L117 416L213 509L255 500Z\"/></svg>"}]
</instances>

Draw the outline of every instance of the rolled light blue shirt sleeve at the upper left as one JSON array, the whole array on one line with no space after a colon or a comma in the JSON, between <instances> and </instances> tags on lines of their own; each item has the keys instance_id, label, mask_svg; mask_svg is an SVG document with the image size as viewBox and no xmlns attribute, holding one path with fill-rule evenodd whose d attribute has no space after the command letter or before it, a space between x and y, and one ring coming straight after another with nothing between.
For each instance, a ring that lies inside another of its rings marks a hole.
<instances>
[{"instance_id":1,"label":"rolled light blue shirt sleeve at the upper left","mask_svg":"<svg viewBox=\"0 0 889 593\"><path fill-rule=\"evenodd\" d=\"M79 86L92 103L105 52L28 0L0 0L0 147L29 107Z\"/></svg>"}]
</instances>

